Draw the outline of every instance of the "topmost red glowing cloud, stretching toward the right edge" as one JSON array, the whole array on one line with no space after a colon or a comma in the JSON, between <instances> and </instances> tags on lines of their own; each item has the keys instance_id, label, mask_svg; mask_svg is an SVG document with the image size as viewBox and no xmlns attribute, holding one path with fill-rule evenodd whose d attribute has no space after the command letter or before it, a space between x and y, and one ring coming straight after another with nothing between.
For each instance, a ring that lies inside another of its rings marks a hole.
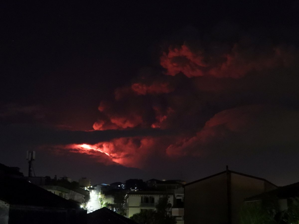
<instances>
[{"instance_id":1,"label":"topmost red glowing cloud, stretching toward the right edge","mask_svg":"<svg viewBox=\"0 0 299 224\"><path fill-rule=\"evenodd\" d=\"M293 58L291 51L284 47L275 46L260 53L251 51L253 49L244 49L240 44L234 44L228 53L209 55L198 50L193 52L186 45L181 45L164 52L160 64L166 68L166 74L171 76L181 72L189 78L205 75L240 78L252 70L289 65Z\"/></svg>"}]
</instances>

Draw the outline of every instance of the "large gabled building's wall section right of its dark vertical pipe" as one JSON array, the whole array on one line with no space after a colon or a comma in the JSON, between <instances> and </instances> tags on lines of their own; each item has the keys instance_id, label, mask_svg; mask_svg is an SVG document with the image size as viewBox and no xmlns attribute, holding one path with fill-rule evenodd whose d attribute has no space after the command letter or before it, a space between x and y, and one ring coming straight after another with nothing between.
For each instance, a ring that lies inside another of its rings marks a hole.
<instances>
[{"instance_id":1,"label":"large gabled building's wall section right of its dark vertical pipe","mask_svg":"<svg viewBox=\"0 0 299 224\"><path fill-rule=\"evenodd\" d=\"M264 180L231 173L232 224L239 224L239 214L244 199L265 192L266 184L267 190L275 188Z\"/></svg>"}]
</instances>

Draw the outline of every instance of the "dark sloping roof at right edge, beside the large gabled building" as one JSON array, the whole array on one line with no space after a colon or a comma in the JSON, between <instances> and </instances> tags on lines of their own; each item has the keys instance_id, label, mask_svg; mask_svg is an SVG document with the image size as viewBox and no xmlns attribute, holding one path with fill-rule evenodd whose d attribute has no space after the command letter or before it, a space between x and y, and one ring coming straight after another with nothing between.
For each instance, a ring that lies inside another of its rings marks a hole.
<instances>
[{"instance_id":1,"label":"dark sloping roof at right edge, beside the large gabled building","mask_svg":"<svg viewBox=\"0 0 299 224\"><path fill-rule=\"evenodd\" d=\"M265 197L278 197L278 198L295 198L299 197L299 182L279 187L272 191L268 191L262 194L258 194L249 198L246 198L245 201L254 201L261 200Z\"/></svg>"}]
</instances>

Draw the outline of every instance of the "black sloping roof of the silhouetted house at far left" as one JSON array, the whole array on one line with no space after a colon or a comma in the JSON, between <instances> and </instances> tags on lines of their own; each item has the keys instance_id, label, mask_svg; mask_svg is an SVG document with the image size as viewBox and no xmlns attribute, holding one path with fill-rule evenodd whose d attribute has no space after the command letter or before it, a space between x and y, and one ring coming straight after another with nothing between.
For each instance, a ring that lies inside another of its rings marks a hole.
<instances>
[{"instance_id":1,"label":"black sloping roof of the silhouetted house at far left","mask_svg":"<svg viewBox=\"0 0 299 224\"><path fill-rule=\"evenodd\" d=\"M80 209L79 205L23 179L1 179L0 199L11 205Z\"/></svg>"}]
</instances>

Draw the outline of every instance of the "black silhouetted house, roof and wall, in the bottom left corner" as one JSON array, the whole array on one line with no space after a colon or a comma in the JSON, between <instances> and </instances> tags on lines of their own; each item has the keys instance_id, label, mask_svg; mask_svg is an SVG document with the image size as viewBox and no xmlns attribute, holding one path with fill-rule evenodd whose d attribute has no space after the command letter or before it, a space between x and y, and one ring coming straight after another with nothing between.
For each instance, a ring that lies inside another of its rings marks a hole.
<instances>
[{"instance_id":1,"label":"black silhouetted house, roof and wall, in the bottom left corner","mask_svg":"<svg viewBox=\"0 0 299 224\"><path fill-rule=\"evenodd\" d=\"M0 223L86 223L86 210L22 178L0 178Z\"/></svg>"}]
</instances>

